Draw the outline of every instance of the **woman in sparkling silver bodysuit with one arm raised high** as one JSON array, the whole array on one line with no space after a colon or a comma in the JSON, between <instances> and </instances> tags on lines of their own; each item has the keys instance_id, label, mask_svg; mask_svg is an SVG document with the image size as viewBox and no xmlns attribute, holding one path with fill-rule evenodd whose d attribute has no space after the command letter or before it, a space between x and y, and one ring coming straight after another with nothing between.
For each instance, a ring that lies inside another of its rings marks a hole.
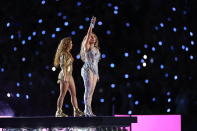
<instances>
[{"instance_id":1,"label":"woman in sparkling silver bodysuit with one arm raised high","mask_svg":"<svg viewBox=\"0 0 197 131\"><path fill-rule=\"evenodd\" d=\"M81 76L83 77L85 92L84 92L84 103L85 116L96 116L92 112L92 96L96 87L96 83L99 80L98 73L98 62L100 60L100 51L98 47L98 38L92 32L96 22L96 17L92 17L90 27L87 35L84 37L81 44L81 60L84 62L81 68Z\"/></svg>"}]
</instances>

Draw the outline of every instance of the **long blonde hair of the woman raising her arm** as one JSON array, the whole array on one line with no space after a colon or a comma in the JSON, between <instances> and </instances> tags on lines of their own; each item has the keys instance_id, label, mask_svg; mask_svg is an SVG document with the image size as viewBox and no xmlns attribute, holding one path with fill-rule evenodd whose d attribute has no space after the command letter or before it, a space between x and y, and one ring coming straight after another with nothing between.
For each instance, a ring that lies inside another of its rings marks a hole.
<instances>
[{"instance_id":1,"label":"long blonde hair of the woman raising her arm","mask_svg":"<svg viewBox=\"0 0 197 131\"><path fill-rule=\"evenodd\" d=\"M96 42L94 43L94 47L96 47L99 50L100 48L99 48L99 40L98 40L98 37L97 37L97 35L95 33L92 33L92 34L96 38ZM84 45L85 45L86 39L87 39L87 35L83 38L83 41L81 43L81 50L80 50L80 57L81 57L81 60L83 62L85 62L85 48L84 48Z\"/></svg>"}]
</instances>

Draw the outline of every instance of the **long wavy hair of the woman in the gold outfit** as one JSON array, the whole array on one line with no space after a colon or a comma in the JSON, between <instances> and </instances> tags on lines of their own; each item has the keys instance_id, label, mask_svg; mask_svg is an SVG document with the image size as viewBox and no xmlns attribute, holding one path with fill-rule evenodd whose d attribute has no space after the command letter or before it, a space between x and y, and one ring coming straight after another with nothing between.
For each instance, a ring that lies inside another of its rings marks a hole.
<instances>
[{"instance_id":1,"label":"long wavy hair of the woman in the gold outfit","mask_svg":"<svg viewBox=\"0 0 197 131\"><path fill-rule=\"evenodd\" d=\"M65 37L60 41L60 43L57 47L56 53L55 53L55 57L54 57L54 63L53 64L54 64L55 67L59 67L60 55L62 53L65 53L66 55L68 55L69 47L71 46L71 42L72 42L72 39L70 37Z\"/></svg>"}]
</instances>

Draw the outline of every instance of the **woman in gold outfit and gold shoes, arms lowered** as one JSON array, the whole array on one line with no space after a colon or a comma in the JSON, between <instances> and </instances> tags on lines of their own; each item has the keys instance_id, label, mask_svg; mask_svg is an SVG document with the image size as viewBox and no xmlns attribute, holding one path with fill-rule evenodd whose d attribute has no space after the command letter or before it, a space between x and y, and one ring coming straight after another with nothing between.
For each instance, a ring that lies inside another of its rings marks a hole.
<instances>
[{"instance_id":1,"label":"woman in gold outfit and gold shoes, arms lowered","mask_svg":"<svg viewBox=\"0 0 197 131\"><path fill-rule=\"evenodd\" d=\"M70 37L66 37L61 40L58 45L55 58L54 58L54 66L61 68L61 71L58 75L58 83L60 84L60 95L57 100L57 111L56 117L67 117L68 115L64 114L62 111L62 105L64 102L64 97L66 95L67 90L71 95L71 103L74 109L74 116L83 116L84 113L79 110L77 97L76 97L76 88L75 82L72 76L73 71L73 57L70 53L72 49L72 40Z\"/></svg>"}]
</instances>

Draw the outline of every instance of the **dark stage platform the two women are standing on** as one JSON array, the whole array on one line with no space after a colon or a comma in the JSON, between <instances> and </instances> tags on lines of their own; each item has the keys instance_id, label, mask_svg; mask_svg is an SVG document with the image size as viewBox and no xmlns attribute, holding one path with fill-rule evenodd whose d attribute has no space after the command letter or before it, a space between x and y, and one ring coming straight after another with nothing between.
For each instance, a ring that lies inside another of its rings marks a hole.
<instances>
[{"instance_id":1,"label":"dark stage platform the two women are standing on","mask_svg":"<svg viewBox=\"0 0 197 131\"><path fill-rule=\"evenodd\" d=\"M128 127L137 117L11 117L0 118L0 128Z\"/></svg>"}]
</instances>

